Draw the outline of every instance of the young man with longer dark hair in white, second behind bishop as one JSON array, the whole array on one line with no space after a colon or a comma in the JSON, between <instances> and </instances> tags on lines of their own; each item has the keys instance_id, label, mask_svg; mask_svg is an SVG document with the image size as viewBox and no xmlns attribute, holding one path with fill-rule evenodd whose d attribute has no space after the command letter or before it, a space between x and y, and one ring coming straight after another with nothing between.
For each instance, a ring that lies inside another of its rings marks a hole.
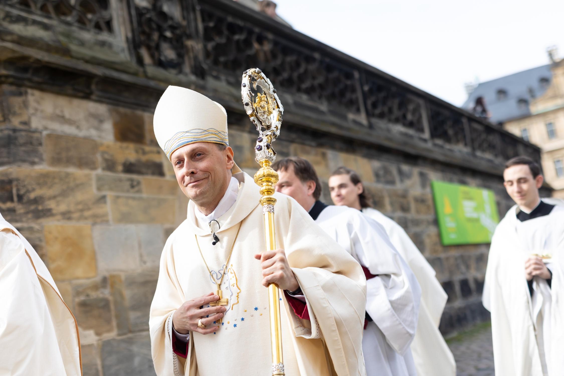
<instances>
[{"instance_id":1,"label":"young man with longer dark hair in white, second behind bishop","mask_svg":"<svg viewBox=\"0 0 564 376\"><path fill-rule=\"evenodd\" d=\"M329 192L333 204L361 210L364 215L384 227L391 244L406 260L421 286L417 331L411 343L417 374L456 375L455 358L439 331L440 317L447 303L447 294L437 280L433 267L399 224L371 207L364 185L355 171L344 166L333 171L329 178Z\"/></svg>"}]
</instances>

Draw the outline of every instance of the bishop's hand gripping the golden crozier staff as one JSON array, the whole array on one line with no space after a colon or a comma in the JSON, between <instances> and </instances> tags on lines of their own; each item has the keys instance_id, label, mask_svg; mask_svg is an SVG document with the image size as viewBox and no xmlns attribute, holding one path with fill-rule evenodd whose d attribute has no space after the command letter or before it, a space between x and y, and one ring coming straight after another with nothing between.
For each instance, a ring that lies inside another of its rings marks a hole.
<instances>
[{"instance_id":1,"label":"bishop's hand gripping the golden crozier staff","mask_svg":"<svg viewBox=\"0 0 564 376\"><path fill-rule=\"evenodd\" d=\"M263 286L268 287L270 284L276 284L282 290L296 291L298 289L298 280L290 269L283 249L255 254L254 258L261 260L262 276L264 277L262 280Z\"/></svg>"}]
</instances>

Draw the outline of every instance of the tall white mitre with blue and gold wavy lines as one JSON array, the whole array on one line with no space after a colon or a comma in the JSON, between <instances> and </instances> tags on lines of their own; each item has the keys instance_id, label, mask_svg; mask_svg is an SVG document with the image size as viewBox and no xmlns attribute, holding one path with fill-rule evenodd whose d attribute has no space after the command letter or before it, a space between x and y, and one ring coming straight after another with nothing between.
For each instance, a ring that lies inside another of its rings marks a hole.
<instances>
[{"instance_id":1,"label":"tall white mitre with blue and gold wavy lines","mask_svg":"<svg viewBox=\"0 0 564 376\"><path fill-rule=\"evenodd\" d=\"M179 86L169 86L158 100L153 130L169 160L174 151L195 142L229 145L227 112L222 105Z\"/></svg>"}]
</instances>

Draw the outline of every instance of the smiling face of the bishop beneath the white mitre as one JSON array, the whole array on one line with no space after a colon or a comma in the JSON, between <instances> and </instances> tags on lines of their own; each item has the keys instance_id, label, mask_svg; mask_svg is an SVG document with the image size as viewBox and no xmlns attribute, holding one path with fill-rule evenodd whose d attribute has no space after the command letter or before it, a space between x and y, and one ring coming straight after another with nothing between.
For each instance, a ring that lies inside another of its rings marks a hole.
<instances>
[{"instance_id":1,"label":"smiling face of the bishop beneath the white mitre","mask_svg":"<svg viewBox=\"0 0 564 376\"><path fill-rule=\"evenodd\" d=\"M197 206L209 207L210 213L227 191L231 168L235 164L232 149L220 150L218 145L210 142L188 144L170 157L182 192Z\"/></svg>"}]
</instances>

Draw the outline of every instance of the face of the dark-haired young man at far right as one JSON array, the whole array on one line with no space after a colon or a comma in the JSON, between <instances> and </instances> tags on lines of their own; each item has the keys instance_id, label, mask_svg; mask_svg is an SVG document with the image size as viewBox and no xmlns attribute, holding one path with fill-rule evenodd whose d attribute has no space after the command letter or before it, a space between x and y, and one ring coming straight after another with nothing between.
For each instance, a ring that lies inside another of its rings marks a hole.
<instances>
[{"instance_id":1,"label":"face of the dark-haired young man at far right","mask_svg":"<svg viewBox=\"0 0 564 376\"><path fill-rule=\"evenodd\" d=\"M526 209L535 209L539 203L539 188L543 175L533 178L527 165L515 165L503 171L504 187L515 204Z\"/></svg>"}]
</instances>

